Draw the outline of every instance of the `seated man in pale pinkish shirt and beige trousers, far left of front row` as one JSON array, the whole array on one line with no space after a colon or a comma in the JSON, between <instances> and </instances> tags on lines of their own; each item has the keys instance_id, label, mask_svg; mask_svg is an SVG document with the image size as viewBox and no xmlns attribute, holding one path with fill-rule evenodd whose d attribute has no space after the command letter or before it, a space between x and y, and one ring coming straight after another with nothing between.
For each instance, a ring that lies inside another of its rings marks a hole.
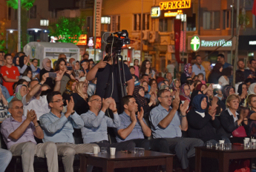
<instances>
[{"instance_id":1,"label":"seated man in pale pinkish shirt and beige trousers, far left of front row","mask_svg":"<svg viewBox=\"0 0 256 172\"><path fill-rule=\"evenodd\" d=\"M28 111L27 117L24 117L22 102L14 98L9 103L9 112L12 117L3 121L1 133L8 150L12 152L13 156L21 156L23 171L34 171L34 157L37 156L46 157L48 171L57 172L58 154L55 143L49 141L36 144L34 136L42 139L44 133L36 120L35 111Z\"/></svg>"}]
</instances>

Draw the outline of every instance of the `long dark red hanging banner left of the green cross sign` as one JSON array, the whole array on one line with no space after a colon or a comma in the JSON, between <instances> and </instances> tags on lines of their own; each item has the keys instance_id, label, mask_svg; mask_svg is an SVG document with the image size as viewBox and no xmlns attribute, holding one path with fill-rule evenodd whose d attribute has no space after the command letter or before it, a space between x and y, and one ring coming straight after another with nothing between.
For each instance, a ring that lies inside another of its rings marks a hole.
<instances>
[{"instance_id":1,"label":"long dark red hanging banner left of the green cross sign","mask_svg":"<svg viewBox=\"0 0 256 172\"><path fill-rule=\"evenodd\" d=\"M180 61L180 25L181 20L174 20L174 33L175 33L175 58L178 63L183 63Z\"/></svg>"}]
</instances>

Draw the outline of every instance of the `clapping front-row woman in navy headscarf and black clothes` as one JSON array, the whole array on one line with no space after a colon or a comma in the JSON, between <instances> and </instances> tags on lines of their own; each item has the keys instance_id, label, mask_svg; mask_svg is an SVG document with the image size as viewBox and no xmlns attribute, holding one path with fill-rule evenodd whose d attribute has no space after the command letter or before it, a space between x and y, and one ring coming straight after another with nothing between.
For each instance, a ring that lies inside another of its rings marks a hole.
<instances>
[{"instance_id":1,"label":"clapping front-row woman in navy headscarf and black clothes","mask_svg":"<svg viewBox=\"0 0 256 172\"><path fill-rule=\"evenodd\" d=\"M208 105L208 97L204 94L198 94L193 98L192 108L187 114L188 119L188 136L190 138L199 138L210 141L213 145L219 140L225 139L226 143L230 143L228 138L221 138L216 133L216 129L220 127L220 121L215 117L216 106Z\"/></svg>"}]
</instances>

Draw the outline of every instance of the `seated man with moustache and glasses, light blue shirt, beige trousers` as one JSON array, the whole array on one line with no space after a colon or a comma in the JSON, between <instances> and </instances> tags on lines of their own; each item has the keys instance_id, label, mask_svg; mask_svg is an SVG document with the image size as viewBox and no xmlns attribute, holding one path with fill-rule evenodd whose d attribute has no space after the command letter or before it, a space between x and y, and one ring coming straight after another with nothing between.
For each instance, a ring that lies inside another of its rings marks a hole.
<instances>
[{"instance_id":1,"label":"seated man with moustache and glasses, light blue shirt, beige trousers","mask_svg":"<svg viewBox=\"0 0 256 172\"><path fill-rule=\"evenodd\" d=\"M74 100L70 97L67 101L67 112L64 114L63 98L58 91L50 92L47 95L47 102L51 111L42 115L40 125L44 131L43 141L56 143L58 155L62 157L64 171L73 172L73 162L75 154L93 152L96 144L74 144L74 128L81 129L84 125L82 118L74 111ZM73 128L74 127L74 128Z\"/></svg>"}]
</instances>

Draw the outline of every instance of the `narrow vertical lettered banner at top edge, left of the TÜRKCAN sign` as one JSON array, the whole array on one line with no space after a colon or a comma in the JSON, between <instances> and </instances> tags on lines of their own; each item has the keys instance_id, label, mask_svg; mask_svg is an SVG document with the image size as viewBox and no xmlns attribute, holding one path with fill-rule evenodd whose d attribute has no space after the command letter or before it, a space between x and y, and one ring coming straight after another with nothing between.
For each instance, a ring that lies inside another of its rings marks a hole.
<instances>
[{"instance_id":1,"label":"narrow vertical lettered banner at top edge, left of the T\u00dcRKCAN sign","mask_svg":"<svg viewBox=\"0 0 256 172\"><path fill-rule=\"evenodd\" d=\"M102 0L96 0L96 7L94 10L96 10L96 16L94 11L94 20L93 20L93 36L95 34L95 26L96 26L96 36L100 37L100 25L101 25L101 8L102 8ZM96 22L96 25L95 25Z\"/></svg>"}]
</instances>

